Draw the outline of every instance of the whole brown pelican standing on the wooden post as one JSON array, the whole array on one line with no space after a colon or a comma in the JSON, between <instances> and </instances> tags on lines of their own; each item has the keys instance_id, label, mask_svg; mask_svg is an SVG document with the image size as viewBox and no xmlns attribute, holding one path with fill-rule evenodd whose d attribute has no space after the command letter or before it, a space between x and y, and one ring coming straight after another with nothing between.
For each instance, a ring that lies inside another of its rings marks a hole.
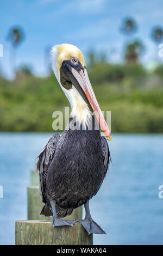
<instances>
[{"instance_id":1,"label":"whole brown pelican standing on the wooden post","mask_svg":"<svg viewBox=\"0 0 163 256\"><path fill-rule=\"evenodd\" d=\"M61 44L52 48L51 55L52 69L72 111L62 135L54 133L39 155L37 172L45 204L41 214L53 216L53 226L81 222L89 234L104 234L89 210L89 200L101 187L110 162L108 143L96 123L109 141L111 133L93 93L82 52L74 45ZM84 220L60 219L83 204Z\"/></svg>"}]
</instances>

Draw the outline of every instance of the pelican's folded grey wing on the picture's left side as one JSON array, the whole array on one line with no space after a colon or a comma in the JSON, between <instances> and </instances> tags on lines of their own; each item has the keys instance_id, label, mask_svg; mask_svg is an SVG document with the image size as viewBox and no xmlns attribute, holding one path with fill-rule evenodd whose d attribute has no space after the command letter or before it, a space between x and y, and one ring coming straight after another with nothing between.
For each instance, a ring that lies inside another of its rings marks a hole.
<instances>
[{"instance_id":1,"label":"pelican's folded grey wing on the picture's left side","mask_svg":"<svg viewBox=\"0 0 163 256\"><path fill-rule=\"evenodd\" d=\"M48 172L49 164L51 164L55 150L60 139L59 133L54 133L47 141L42 151L40 152L39 160L37 162L37 173L39 174L40 194L42 202L46 203L45 199L45 181Z\"/></svg>"}]
</instances>

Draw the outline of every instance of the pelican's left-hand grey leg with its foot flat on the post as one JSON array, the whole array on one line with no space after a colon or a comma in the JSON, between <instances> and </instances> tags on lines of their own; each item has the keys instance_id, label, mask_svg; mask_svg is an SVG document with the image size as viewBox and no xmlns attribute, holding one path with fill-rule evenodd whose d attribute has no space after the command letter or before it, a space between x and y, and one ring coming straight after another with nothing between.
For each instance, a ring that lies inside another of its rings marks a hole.
<instances>
[{"instance_id":1,"label":"pelican's left-hand grey leg with its foot flat on the post","mask_svg":"<svg viewBox=\"0 0 163 256\"><path fill-rule=\"evenodd\" d=\"M66 221L66 220L61 220L58 215L57 211L55 209L55 200L51 200L51 206L52 206L52 211L53 211L53 218L52 218L52 225L53 227L59 227L59 226L73 226L74 222L73 221Z\"/></svg>"}]
</instances>

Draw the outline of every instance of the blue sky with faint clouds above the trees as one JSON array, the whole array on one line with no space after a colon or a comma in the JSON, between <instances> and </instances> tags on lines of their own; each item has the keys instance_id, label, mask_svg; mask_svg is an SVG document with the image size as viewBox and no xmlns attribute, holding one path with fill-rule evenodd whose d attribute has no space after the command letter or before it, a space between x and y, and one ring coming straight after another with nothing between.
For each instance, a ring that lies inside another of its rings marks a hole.
<instances>
[{"instance_id":1,"label":"blue sky with faint clouds above the trees","mask_svg":"<svg viewBox=\"0 0 163 256\"><path fill-rule=\"evenodd\" d=\"M16 50L16 67L27 65L39 76L47 74L45 54L56 44L76 45L86 56L91 49L105 52L111 62L121 62L126 37L120 32L122 20L133 17L138 30L130 40L146 46L141 61L151 63L157 47L151 39L154 26L163 27L162 0L5 0L0 1L0 70L13 77L8 31L20 26L24 40ZM47 54L46 54L47 56Z\"/></svg>"}]
</instances>

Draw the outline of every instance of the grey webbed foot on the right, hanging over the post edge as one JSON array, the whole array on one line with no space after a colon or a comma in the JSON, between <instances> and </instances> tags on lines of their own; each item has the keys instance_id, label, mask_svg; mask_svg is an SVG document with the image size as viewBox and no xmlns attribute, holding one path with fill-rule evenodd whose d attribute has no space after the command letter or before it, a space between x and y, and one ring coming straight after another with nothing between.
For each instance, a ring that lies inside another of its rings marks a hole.
<instances>
[{"instance_id":1,"label":"grey webbed foot on the right, hanging over the post edge","mask_svg":"<svg viewBox=\"0 0 163 256\"><path fill-rule=\"evenodd\" d=\"M84 220L76 220L80 222L86 229L87 233L90 234L106 234L105 231L99 227L99 225L92 220L92 218L85 218Z\"/></svg>"}]
</instances>

